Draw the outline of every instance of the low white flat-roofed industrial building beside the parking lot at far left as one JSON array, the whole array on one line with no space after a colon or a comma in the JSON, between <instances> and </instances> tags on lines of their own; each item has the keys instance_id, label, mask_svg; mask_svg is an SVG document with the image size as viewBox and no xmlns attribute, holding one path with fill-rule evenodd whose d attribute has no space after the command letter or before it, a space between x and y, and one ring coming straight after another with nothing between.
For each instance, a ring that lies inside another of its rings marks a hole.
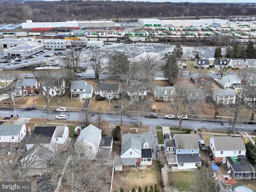
<instances>
[{"instance_id":1,"label":"low white flat-roofed industrial building beside the parking lot at far left","mask_svg":"<svg viewBox=\"0 0 256 192\"><path fill-rule=\"evenodd\" d=\"M40 43L25 43L3 50L4 56L27 57L44 50L44 45Z\"/></svg>"}]
</instances>

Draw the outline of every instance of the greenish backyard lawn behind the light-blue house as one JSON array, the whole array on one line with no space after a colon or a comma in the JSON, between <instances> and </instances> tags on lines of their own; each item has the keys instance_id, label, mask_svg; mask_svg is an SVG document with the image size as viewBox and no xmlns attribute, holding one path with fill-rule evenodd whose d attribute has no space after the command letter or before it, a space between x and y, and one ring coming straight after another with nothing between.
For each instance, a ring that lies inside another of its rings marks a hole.
<instances>
[{"instance_id":1,"label":"greenish backyard lawn behind the light-blue house","mask_svg":"<svg viewBox=\"0 0 256 192\"><path fill-rule=\"evenodd\" d=\"M178 191L194 191L192 186L197 173L198 170L168 172L170 185L176 187Z\"/></svg>"}]
</instances>

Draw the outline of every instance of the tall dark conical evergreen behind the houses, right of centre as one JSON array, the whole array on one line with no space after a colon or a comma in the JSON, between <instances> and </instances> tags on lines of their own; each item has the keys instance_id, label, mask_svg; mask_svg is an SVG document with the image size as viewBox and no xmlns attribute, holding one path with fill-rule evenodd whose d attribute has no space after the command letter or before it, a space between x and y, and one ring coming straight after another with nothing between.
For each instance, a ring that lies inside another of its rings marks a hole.
<instances>
[{"instance_id":1,"label":"tall dark conical evergreen behind the houses, right of centre","mask_svg":"<svg viewBox=\"0 0 256 192\"><path fill-rule=\"evenodd\" d=\"M168 78L170 84L173 86L174 81L180 72L177 64L177 58L175 55L169 55L167 58L165 58L165 62L164 77Z\"/></svg>"}]
</instances>

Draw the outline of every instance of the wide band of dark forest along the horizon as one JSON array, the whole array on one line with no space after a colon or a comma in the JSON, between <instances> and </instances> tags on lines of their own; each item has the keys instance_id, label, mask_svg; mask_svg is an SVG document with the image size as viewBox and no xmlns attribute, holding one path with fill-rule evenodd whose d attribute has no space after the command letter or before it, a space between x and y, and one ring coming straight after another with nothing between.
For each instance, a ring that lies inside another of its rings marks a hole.
<instances>
[{"instance_id":1,"label":"wide band of dark forest along the horizon","mask_svg":"<svg viewBox=\"0 0 256 192\"><path fill-rule=\"evenodd\" d=\"M256 3L153 3L123 1L26 1L0 3L0 22L63 22L66 20L112 20L137 22L138 18L199 19L252 16ZM221 15L220 15L221 14Z\"/></svg>"}]
</instances>

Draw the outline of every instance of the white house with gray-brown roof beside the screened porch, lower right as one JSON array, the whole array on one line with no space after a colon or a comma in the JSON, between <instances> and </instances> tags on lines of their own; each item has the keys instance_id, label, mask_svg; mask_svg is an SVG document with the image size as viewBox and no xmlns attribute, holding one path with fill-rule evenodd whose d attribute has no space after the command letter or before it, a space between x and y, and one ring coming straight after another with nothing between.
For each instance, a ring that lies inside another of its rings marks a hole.
<instances>
[{"instance_id":1,"label":"white house with gray-brown roof beside the screened porch, lower right","mask_svg":"<svg viewBox=\"0 0 256 192\"><path fill-rule=\"evenodd\" d=\"M226 164L226 157L246 154L242 137L220 136L210 138L210 152L216 162Z\"/></svg>"}]
</instances>

